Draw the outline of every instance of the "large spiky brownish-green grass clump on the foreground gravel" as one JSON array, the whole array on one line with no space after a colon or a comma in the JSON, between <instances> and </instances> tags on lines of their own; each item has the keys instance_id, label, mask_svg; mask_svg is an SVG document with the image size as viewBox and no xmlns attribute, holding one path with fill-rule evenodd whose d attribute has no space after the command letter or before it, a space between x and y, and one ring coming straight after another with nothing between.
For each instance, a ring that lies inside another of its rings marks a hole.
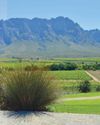
<instances>
[{"instance_id":1,"label":"large spiky brownish-green grass clump on the foreground gravel","mask_svg":"<svg viewBox=\"0 0 100 125\"><path fill-rule=\"evenodd\" d=\"M53 79L43 71L15 71L3 79L7 110L45 110L58 95Z\"/></svg>"}]
</instances>

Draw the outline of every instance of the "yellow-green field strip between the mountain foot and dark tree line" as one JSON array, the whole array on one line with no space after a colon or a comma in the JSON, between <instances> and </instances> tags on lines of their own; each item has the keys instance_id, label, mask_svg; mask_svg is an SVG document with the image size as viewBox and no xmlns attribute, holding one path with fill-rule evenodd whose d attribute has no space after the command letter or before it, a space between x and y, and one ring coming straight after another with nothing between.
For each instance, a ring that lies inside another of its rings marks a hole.
<instances>
[{"instance_id":1,"label":"yellow-green field strip between the mountain foot and dark tree line","mask_svg":"<svg viewBox=\"0 0 100 125\"><path fill-rule=\"evenodd\" d=\"M100 62L98 58L52 58L52 59L17 59L17 58L0 58L0 67L21 67L30 64L38 66L47 66L54 63L74 62L74 63L96 63Z\"/></svg>"}]
</instances>

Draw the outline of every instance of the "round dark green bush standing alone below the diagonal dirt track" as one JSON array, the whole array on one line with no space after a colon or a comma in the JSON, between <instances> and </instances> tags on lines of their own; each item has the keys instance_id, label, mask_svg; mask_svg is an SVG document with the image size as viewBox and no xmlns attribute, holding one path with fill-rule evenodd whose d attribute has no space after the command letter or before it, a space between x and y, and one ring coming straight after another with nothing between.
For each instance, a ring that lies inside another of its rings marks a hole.
<instances>
[{"instance_id":1,"label":"round dark green bush standing alone below the diagonal dirt track","mask_svg":"<svg viewBox=\"0 0 100 125\"><path fill-rule=\"evenodd\" d=\"M78 86L78 89L80 92L90 92L91 91L91 84L88 80L82 81L80 85Z\"/></svg>"}]
</instances>

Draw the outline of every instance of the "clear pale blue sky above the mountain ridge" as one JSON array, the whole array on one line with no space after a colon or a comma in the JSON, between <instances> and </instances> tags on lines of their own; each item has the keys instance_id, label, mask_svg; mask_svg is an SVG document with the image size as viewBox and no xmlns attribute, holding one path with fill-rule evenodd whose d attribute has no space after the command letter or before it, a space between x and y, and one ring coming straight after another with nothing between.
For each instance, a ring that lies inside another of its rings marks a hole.
<instances>
[{"instance_id":1,"label":"clear pale blue sky above the mountain ridge","mask_svg":"<svg viewBox=\"0 0 100 125\"><path fill-rule=\"evenodd\" d=\"M100 29L100 0L0 0L0 19L57 16L84 29Z\"/></svg>"}]
</instances>

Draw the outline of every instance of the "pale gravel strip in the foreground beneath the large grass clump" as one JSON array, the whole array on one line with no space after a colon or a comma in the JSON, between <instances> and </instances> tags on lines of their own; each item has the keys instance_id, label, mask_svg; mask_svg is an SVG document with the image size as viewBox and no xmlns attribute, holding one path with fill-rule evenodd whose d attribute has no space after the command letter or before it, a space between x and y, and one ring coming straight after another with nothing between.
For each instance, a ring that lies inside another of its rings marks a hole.
<instances>
[{"instance_id":1,"label":"pale gravel strip in the foreground beneath the large grass clump","mask_svg":"<svg viewBox=\"0 0 100 125\"><path fill-rule=\"evenodd\" d=\"M100 125L100 115L0 111L0 125Z\"/></svg>"}]
</instances>

